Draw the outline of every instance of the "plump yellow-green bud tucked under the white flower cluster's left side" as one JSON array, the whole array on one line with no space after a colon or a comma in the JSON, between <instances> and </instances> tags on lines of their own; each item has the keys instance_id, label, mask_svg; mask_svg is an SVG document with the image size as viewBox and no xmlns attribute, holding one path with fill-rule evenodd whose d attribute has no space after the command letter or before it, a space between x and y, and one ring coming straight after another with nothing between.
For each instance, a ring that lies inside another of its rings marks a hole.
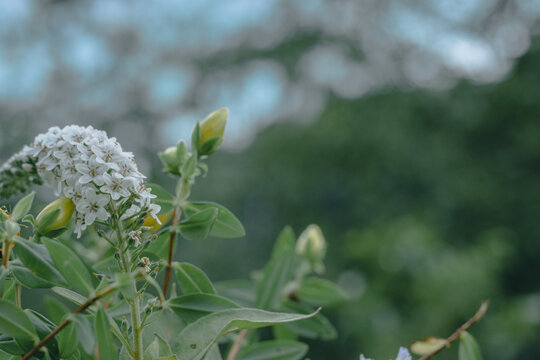
<instances>
[{"instance_id":1,"label":"plump yellow-green bud tucked under the white flower cluster's left side","mask_svg":"<svg viewBox=\"0 0 540 360\"><path fill-rule=\"evenodd\" d=\"M71 199L62 197L45 206L36 217L39 232L45 236L58 235L69 224L75 204Z\"/></svg>"}]
</instances>

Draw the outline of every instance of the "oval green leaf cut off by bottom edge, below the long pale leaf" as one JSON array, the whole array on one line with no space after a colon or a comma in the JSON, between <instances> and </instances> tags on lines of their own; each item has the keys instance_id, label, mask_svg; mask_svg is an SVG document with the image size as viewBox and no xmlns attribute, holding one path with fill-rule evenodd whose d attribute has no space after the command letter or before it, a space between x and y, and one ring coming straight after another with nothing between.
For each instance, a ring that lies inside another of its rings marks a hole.
<instances>
[{"instance_id":1,"label":"oval green leaf cut off by bottom edge, below the long pale leaf","mask_svg":"<svg viewBox=\"0 0 540 360\"><path fill-rule=\"evenodd\" d=\"M300 360L307 353L308 346L291 340L263 341L240 350L238 360Z\"/></svg>"}]
</instances>

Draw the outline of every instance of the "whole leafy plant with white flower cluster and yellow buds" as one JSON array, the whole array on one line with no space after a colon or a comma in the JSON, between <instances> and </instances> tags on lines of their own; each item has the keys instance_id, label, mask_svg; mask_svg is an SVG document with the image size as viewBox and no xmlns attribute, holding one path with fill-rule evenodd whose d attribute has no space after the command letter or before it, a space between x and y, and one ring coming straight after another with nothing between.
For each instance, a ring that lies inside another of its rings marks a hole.
<instances>
[{"instance_id":1,"label":"whole leafy plant with white flower cluster and yellow buds","mask_svg":"<svg viewBox=\"0 0 540 360\"><path fill-rule=\"evenodd\" d=\"M336 337L320 307L346 295L320 277L326 242L315 225L298 240L285 228L251 279L213 283L174 259L177 241L245 235L224 206L190 199L227 117L215 111L190 146L159 154L173 192L90 126L53 127L0 168L2 198L34 185L58 196L35 217L33 192L0 211L0 359L300 359L300 338ZM49 291L45 313L23 309L33 294L23 287Z\"/></svg>"}]
</instances>

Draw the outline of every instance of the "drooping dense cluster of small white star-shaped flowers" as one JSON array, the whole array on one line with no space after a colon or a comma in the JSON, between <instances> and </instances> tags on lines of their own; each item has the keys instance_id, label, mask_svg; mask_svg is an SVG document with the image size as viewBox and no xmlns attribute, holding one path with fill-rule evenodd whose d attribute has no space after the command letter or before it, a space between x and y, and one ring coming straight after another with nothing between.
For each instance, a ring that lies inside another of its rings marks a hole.
<instances>
[{"instance_id":1,"label":"drooping dense cluster of small white star-shaped flowers","mask_svg":"<svg viewBox=\"0 0 540 360\"><path fill-rule=\"evenodd\" d=\"M106 221L122 206L127 206L124 219L146 209L159 221L160 206L151 203L156 196L145 186L133 154L122 151L116 138L108 138L104 131L91 126L52 127L17 154L25 157L35 159L37 174L56 195L75 203L79 237L96 219Z\"/></svg>"}]
</instances>

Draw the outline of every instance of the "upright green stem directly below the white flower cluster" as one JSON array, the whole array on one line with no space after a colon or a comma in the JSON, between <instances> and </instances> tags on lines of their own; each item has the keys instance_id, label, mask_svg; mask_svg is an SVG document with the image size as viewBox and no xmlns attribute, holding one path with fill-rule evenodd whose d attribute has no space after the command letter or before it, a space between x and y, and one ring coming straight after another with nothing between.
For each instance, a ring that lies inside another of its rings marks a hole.
<instances>
[{"instance_id":1,"label":"upright green stem directly below the white flower cluster","mask_svg":"<svg viewBox=\"0 0 540 360\"><path fill-rule=\"evenodd\" d=\"M115 222L116 236L118 238L118 248L120 249L120 263L122 271L126 274L130 274L130 263L131 259L129 258L129 251L127 246L124 246L125 239L122 236L122 225L119 220ZM132 293L134 294L133 299L126 299L129 304L131 311L131 323L133 329L133 359L134 360L143 360L143 342L142 342L142 332L143 327L141 326L141 311L139 303L139 292L137 291L136 280L133 279L131 282Z\"/></svg>"}]
</instances>

